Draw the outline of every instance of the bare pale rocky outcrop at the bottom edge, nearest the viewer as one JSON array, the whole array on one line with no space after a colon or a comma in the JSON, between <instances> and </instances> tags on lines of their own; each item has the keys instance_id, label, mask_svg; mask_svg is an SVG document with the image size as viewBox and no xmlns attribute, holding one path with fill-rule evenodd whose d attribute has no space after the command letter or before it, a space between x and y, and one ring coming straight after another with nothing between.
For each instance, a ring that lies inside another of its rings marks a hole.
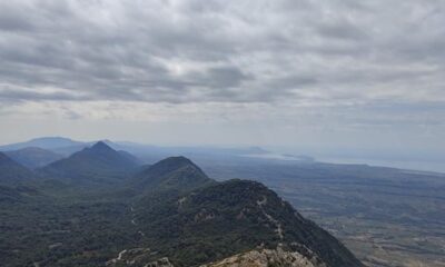
<instances>
[{"instance_id":1,"label":"bare pale rocky outcrop at the bottom edge, nearest the viewer","mask_svg":"<svg viewBox=\"0 0 445 267\"><path fill-rule=\"evenodd\" d=\"M318 258L308 258L296 251L256 249L201 267L326 267Z\"/></svg>"}]
</instances>

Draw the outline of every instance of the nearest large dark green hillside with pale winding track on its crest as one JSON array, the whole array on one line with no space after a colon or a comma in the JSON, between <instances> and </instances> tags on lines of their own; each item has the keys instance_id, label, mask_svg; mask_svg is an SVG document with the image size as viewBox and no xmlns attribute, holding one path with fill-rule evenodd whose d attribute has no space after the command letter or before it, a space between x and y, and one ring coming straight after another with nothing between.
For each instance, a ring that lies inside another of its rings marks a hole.
<instances>
[{"instance_id":1,"label":"nearest large dark green hillside with pale winding track on its crest","mask_svg":"<svg viewBox=\"0 0 445 267\"><path fill-rule=\"evenodd\" d=\"M274 191L230 180L178 195L152 195L135 205L134 222L156 257L199 266L261 246L296 251L330 267L363 266L337 239L303 218Z\"/></svg>"}]
</instances>

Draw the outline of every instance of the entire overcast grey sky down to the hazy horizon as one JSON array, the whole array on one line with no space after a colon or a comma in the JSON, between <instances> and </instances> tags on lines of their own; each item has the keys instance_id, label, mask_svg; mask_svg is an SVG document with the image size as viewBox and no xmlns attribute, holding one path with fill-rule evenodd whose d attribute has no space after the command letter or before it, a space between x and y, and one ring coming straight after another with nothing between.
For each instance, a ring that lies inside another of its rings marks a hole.
<instances>
[{"instance_id":1,"label":"entire overcast grey sky down to the hazy horizon","mask_svg":"<svg viewBox=\"0 0 445 267\"><path fill-rule=\"evenodd\" d=\"M445 150L445 1L0 0L0 142Z\"/></svg>"}]
</instances>

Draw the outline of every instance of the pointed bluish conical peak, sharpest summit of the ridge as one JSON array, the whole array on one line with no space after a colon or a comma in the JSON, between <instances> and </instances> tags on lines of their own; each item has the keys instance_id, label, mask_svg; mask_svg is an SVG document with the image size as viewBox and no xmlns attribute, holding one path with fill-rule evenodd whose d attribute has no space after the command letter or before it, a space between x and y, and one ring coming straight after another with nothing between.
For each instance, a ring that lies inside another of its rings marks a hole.
<instances>
[{"instance_id":1,"label":"pointed bluish conical peak, sharpest summit of the ridge","mask_svg":"<svg viewBox=\"0 0 445 267\"><path fill-rule=\"evenodd\" d=\"M137 167L138 162L134 158L99 141L41 168L40 172L49 178L65 178L78 182L112 182L122 179Z\"/></svg>"}]
</instances>

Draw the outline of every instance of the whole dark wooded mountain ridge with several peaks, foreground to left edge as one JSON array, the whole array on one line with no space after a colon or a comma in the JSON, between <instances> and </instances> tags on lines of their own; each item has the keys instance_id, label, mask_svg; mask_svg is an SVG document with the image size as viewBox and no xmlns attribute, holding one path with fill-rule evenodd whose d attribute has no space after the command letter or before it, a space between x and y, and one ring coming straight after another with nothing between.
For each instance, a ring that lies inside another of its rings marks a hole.
<instances>
[{"instance_id":1,"label":"whole dark wooded mountain ridge with several peaks, foreground to left edge","mask_svg":"<svg viewBox=\"0 0 445 267\"><path fill-rule=\"evenodd\" d=\"M363 266L259 182L185 157L140 166L103 141L36 171L0 154L0 208L4 266Z\"/></svg>"}]
</instances>

